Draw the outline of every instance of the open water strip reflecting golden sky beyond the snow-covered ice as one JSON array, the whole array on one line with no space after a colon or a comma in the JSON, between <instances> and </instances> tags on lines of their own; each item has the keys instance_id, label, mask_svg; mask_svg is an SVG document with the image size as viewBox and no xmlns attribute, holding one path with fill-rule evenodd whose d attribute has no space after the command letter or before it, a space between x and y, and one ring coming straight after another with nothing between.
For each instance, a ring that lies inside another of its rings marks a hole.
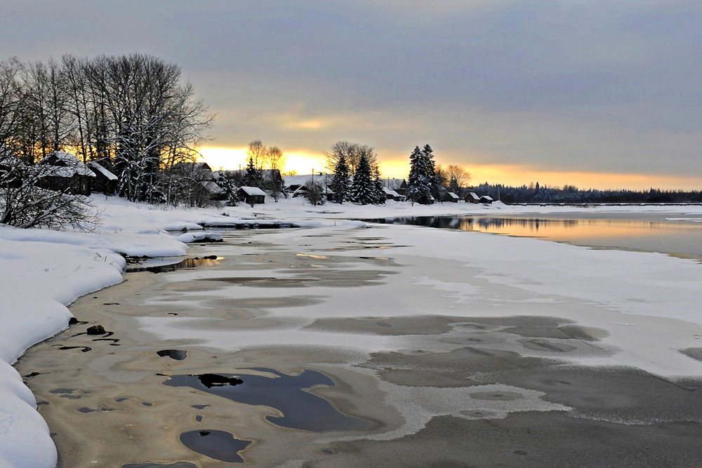
<instances>
[{"instance_id":1,"label":"open water strip reflecting golden sky beyond the snow-covered ice","mask_svg":"<svg viewBox=\"0 0 702 468\"><path fill-rule=\"evenodd\" d=\"M644 218L625 215L602 218L538 218L491 216L417 216L372 220L388 224L418 225L486 232L505 236L535 237L581 246L622 248L672 255L702 255L702 223L694 218L666 219L661 215Z\"/></svg>"}]
</instances>

